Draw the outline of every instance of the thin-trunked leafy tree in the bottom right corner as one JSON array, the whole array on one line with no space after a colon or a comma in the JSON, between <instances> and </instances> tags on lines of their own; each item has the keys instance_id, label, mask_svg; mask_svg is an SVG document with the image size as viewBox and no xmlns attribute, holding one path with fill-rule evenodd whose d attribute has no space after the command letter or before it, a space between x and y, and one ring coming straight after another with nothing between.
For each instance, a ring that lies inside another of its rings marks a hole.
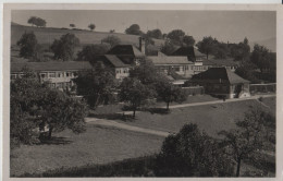
<instances>
[{"instance_id":1,"label":"thin-trunked leafy tree in the bottom right corner","mask_svg":"<svg viewBox=\"0 0 283 181\"><path fill-rule=\"evenodd\" d=\"M244 119L236 122L237 129L219 133L224 136L222 145L226 154L237 165L236 177L239 177L242 160L262 150L268 141L268 126L274 122L274 117L261 108L256 108L245 112Z\"/></svg>"}]
</instances>

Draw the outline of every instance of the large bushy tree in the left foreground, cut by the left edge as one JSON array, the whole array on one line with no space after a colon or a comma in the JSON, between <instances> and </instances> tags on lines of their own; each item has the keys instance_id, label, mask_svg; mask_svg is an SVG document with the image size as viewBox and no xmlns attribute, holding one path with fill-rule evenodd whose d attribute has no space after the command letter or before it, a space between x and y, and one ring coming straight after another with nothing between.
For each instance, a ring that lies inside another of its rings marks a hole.
<instances>
[{"instance_id":1,"label":"large bushy tree in the left foreground, cut by the left edge","mask_svg":"<svg viewBox=\"0 0 283 181\"><path fill-rule=\"evenodd\" d=\"M11 140L32 144L38 138L36 129L51 132L71 129L84 131L85 104L41 84L35 73L23 70L23 76L11 82Z\"/></svg>"}]
</instances>

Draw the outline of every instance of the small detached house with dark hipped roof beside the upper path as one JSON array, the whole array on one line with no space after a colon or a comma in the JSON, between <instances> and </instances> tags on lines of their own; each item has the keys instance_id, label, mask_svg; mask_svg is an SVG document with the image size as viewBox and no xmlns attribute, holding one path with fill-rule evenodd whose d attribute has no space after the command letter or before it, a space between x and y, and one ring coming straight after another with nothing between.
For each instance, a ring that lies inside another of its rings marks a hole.
<instances>
[{"instance_id":1,"label":"small detached house with dark hipped roof beside the upper path","mask_svg":"<svg viewBox=\"0 0 283 181\"><path fill-rule=\"evenodd\" d=\"M225 98L249 97L249 81L226 68L211 68L189 80L190 85L205 87L206 94Z\"/></svg>"}]
</instances>

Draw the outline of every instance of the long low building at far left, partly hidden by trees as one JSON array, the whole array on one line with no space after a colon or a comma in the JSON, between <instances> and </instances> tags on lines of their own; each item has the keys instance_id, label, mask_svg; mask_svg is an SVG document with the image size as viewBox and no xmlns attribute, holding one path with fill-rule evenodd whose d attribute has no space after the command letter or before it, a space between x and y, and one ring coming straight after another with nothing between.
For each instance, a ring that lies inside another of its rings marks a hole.
<instances>
[{"instance_id":1,"label":"long low building at far left, partly hidden by trees","mask_svg":"<svg viewBox=\"0 0 283 181\"><path fill-rule=\"evenodd\" d=\"M47 82L51 88L71 89L74 86L73 79L77 72L91 70L89 62L66 61L66 62L25 62L11 63L11 81L23 75L23 70L34 71L40 83Z\"/></svg>"}]
</instances>

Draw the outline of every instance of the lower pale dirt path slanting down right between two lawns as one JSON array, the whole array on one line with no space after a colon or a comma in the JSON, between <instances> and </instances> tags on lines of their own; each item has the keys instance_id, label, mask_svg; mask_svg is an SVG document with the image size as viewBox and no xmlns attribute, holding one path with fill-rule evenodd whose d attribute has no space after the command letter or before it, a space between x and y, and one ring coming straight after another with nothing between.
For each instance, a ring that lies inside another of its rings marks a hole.
<instances>
[{"instance_id":1,"label":"lower pale dirt path slanting down right between two lawns","mask_svg":"<svg viewBox=\"0 0 283 181\"><path fill-rule=\"evenodd\" d=\"M103 125L103 126L113 126L113 128L118 128L118 129L123 129L123 130L128 130L128 131L134 131L134 132L140 132L140 133L146 133L146 134L153 134L153 135L163 136L163 137L167 137L170 134L169 132L164 132L164 131L143 129L143 128L139 128L139 126L133 126L133 125L119 123L116 121L106 120L106 119L85 118L85 121L87 123L90 123L90 124Z\"/></svg>"}]
</instances>

